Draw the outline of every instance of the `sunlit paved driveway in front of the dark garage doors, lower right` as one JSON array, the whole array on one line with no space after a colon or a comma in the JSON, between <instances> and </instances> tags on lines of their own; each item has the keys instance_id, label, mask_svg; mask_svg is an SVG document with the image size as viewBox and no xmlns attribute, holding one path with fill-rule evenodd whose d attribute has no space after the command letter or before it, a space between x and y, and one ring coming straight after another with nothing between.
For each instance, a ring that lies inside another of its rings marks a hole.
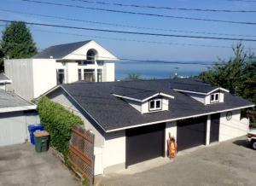
<instances>
[{"instance_id":1,"label":"sunlit paved driveway in front of the dark garage doors, lower right","mask_svg":"<svg viewBox=\"0 0 256 186\"><path fill-rule=\"evenodd\" d=\"M123 174L97 177L96 182L102 185L255 185L256 151L247 147L245 139L185 152L172 162L148 171L132 175L123 171Z\"/></svg>"}]
</instances>

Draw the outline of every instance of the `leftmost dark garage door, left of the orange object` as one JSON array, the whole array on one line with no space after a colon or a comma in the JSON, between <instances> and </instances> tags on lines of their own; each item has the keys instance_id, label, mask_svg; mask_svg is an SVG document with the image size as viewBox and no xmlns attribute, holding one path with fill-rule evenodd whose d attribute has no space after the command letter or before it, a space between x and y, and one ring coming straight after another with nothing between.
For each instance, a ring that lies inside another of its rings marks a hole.
<instances>
[{"instance_id":1,"label":"leftmost dark garage door, left of the orange object","mask_svg":"<svg viewBox=\"0 0 256 186\"><path fill-rule=\"evenodd\" d=\"M164 156L166 124L149 125L126 130L126 164Z\"/></svg>"}]
</instances>

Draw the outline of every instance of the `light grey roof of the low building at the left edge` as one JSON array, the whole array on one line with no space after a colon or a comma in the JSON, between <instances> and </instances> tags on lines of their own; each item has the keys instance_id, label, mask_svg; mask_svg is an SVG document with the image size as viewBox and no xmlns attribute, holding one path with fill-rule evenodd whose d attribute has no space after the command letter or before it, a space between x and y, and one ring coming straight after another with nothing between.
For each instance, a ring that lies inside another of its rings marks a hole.
<instances>
[{"instance_id":1,"label":"light grey roof of the low building at the left edge","mask_svg":"<svg viewBox=\"0 0 256 186\"><path fill-rule=\"evenodd\" d=\"M31 102L27 102L13 92L0 89L0 108L15 108L32 106Z\"/></svg>"}]
</instances>

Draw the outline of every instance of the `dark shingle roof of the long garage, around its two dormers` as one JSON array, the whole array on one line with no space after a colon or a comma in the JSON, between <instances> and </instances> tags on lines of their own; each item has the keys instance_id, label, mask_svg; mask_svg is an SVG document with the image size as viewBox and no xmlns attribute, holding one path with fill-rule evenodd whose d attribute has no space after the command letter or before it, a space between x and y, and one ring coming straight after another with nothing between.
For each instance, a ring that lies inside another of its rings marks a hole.
<instances>
[{"instance_id":1,"label":"dark shingle roof of the long garage, around its two dormers","mask_svg":"<svg viewBox=\"0 0 256 186\"><path fill-rule=\"evenodd\" d=\"M95 119L96 123L106 132L209 113L220 113L232 109L253 107L252 102L247 102L241 97L232 96L227 92L224 92L224 102L204 105L181 92L172 90L170 88L172 81L172 79L162 79L106 83L78 82L61 84L60 88L65 90L75 102L78 102L80 107L89 113ZM188 79L189 81L190 79ZM175 80L175 82L177 81ZM175 98L170 99L169 110L167 111L142 114L119 97L113 96L113 88L116 86L125 86L153 92L162 90Z\"/></svg>"}]
</instances>

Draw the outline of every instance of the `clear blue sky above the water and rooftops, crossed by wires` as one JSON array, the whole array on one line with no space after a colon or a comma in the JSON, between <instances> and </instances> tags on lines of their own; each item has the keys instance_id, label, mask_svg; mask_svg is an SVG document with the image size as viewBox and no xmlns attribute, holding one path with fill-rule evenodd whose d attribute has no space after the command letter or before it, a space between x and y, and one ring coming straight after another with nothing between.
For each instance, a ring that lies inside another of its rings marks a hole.
<instances>
[{"instance_id":1,"label":"clear blue sky above the water and rooftops, crossed by wires","mask_svg":"<svg viewBox=\"0 0 256 186\"><path fill-rule=\"evenodd\" d=\"M99 0L98 0L99 1ZM103 1L103 0L102 0ZM102 9L118 9L125 11L135 11L143 13L152 13L160 15L177 15L177 16L188 16L196 18L207 18L216 20L236 20L236 21L251 21L256 22L256 13L209 13L209 12L196 12L196 11L178 11L178 10L163 10L163 9L138 9L138 8L122 8L115 6L100 5L95 3L81 3L79 1L72 0L42 0L42 2L55 2L55 3L66 3L76 4L92 8ZM256 3L249 2L230 2L226 0L166 0L166 1L135 1L135 0L104 0L103 2L108 3L134 3L141 5L154 5L154 6L166 6L173 8L199 8L199 9L243 9L243 10L256 10ZM102 12L91 9L76 9L70 7L53 6L38 3L27 3L20 0L2 0L0 9L17 10L27 13L42 14L42 15L54 15L62 16L67 18L79 19L79 20L90 20L100 21L113 24L122 24L130 26L143 26L143 27L154 27L160 29L172 29L181 31L192 31L192 32L218 32L218 33L229 33L229 34L243 34L243 35L256 35L255 28L253 25L238 25L228 24L219 22L207 22L197 20L178 20L171 18L160 18L150 17L143 15L125 15L119 13ZM185 34L185 35L200 35L200 36L214 36L206 34L193 34L183 32L166 32L166 31L154 31L144 30L127 27L117 26L102 26L92 24L88 22L78 22L71 20L57 20L32 15L19 15L15 13L7 13L0 11L0 18L6 20L26 20L39 23L49 23L58 25L69 25L69 26L83 26L83 27L94 27L102 29L113 29L113 30L125 30L131 32L160 32L169 34ZM2 23L0 23L2 24ZM2 24L3 25L3 24ZM90 32L90 31L76 31L71 29L63 28L50 28L43 26L30 26L33 37L37 43L39 49L44 49L49 45L53 44L64 44L70 42L76 42L81 40L94 39L98 43L113 52L113 54L120 58L135 58L135 59L148 59L148 60L166 60L166 61L215 61L217 57L228 59L232 55L230 48L218 48L218 47L200 47L200 46L184 46L179 44L206 44L231 47L237 42L232 41L221 41L211 39L195 39L195 38L165 38L165 37L153 37L153 36L137 36L127 35L119 33L108 33L108 32ZM0 27L3 30L3 26ZM40 31L38 31L40 30ZM46 31L46 32L42 32ZM64 35L50 32L68 32L74 34L82 34L81 36ZM224 36L219 36L224 37ZM230 38L238 38L231 37ZM163 42L172 44L148 44L141 42L121 41L113 40L110 38L118 39L129 39L129 40L143 40L149 42ZM246 37L243 37L246 38ZM248 38L248 37L247 37ZM253 37L250 37L253 38ZM256 39L254 37L253 39ZM176 44L173 44L176 43ZM256 42L244 42L247 48L256 48ZM255 51L255 49L252 49ZM131 66L135 66L131 63ZM154 66L155 67L155 66ZM154 68L153 67L153 68ZM184 69L200 68L199 66L183 66Z\"/></svg>"}]
</instances>

